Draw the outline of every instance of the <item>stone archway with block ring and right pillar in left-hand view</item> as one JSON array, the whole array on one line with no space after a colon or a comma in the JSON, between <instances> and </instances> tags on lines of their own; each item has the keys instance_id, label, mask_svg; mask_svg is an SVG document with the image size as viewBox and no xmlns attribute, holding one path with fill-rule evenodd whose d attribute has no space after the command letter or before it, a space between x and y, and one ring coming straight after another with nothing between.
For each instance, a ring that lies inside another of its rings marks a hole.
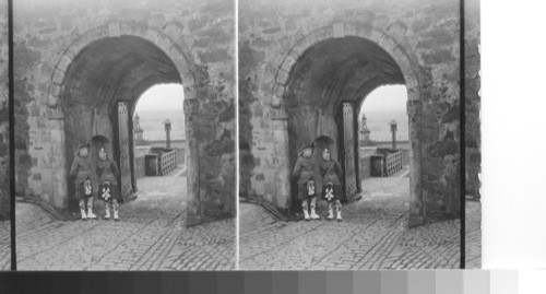
<instances>
[{"instance_id":1,"label":"stone archway with block ring and right pillar in left-hand view","mask_svg":"<svg viewBox=\"0 0 546 294\"><path fill-rule=\"evenodd\" d=\"M185 86L187 130L188 205L187 225L201 223L199 197L199 160L192 122L197 107L195 62L177 39L176 25L168 25L163 33L142 25L112 22L74 38L57 63L49 86L50 120L58 121L55 132L61 143L52 142L51 150L64 153L66 167L71 162L71 149L95 134L103 134L117 145L124 144L127 152L118 160L133 156L132 138L119 140L120 110L127 111L126 133L131 133L131 114L140 94L158 83L181 83ZM174 27L170 27L174 26ZM173 36L171 36L173 35ZM121 104L124 104L121 105ZM115 121L115 120L118 121ZM123 141L124 140L124 141ZM60 144L60 145L59 145ZM54 151L52 151L54 152ZM62 158L62 156L61 156ZM62 161L62 160L61 160ZM60 181L57 189L67 196L66 168L54 168Z\"/></svg>"}]
</instances>

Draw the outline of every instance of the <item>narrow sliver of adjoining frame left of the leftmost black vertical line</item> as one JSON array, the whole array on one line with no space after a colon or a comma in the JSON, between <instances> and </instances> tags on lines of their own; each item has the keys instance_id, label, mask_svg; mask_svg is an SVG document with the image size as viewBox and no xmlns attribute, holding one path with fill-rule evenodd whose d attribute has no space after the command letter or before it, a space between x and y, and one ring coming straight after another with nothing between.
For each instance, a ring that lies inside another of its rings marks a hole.
<instances>
[{"instance_id":1,"label":"narrow sliver of adjoining frame left of the leftmost black vertical line","mask_svg":"<svg viewBox=\"0 0 546 294\"><path fill-rule=\"evenodd\" d=\"M0 1L0 271L11 269L8 1Z\"/></svg>"}]
</instances>

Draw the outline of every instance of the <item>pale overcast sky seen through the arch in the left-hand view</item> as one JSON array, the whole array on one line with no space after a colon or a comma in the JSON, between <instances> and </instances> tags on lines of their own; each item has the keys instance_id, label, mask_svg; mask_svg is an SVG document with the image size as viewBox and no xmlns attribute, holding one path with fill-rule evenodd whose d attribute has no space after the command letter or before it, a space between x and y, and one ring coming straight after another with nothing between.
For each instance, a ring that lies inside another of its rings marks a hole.
<instances>
[{"instance_id":1,"label":"pale overcast sky seen through the arch in the left-hand view","mask_svg":"<svg viewBox=\"0 0 546 294\"><path fill-rule=\"evenodd\" d=\"M149 89L136 104L138 111L183 109L181 84L158 84Z\"/></svg>"}]
</instances>

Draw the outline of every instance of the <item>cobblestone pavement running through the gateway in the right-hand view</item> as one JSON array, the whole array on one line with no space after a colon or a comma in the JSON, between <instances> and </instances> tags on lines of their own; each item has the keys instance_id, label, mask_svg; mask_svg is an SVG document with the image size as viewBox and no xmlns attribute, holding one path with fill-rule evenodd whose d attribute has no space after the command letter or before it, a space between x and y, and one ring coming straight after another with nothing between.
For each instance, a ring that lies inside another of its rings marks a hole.
<instances>
[{"instance_id":1,"label":"cobblestone pavement running through the gateway in the right-hand view","mask_svg":"<svg viewBox=\"0 0 546 294\"><path fill-rule=\"evenodd\" d=\"M458 269L460 221L407 228L410 179L371 178L344 222L280 222L240 203L244 270ZM325 203L319 214L325 216Z\"/></svg>"}]
</instances>

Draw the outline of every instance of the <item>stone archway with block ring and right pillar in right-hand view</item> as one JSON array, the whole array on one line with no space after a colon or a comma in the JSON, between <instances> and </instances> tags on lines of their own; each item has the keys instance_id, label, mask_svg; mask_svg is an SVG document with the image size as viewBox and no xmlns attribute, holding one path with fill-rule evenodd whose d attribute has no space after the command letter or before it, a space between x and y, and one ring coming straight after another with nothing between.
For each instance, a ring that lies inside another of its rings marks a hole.
<instances>
[{"instance_id":1,"label":"stone archway with block ring and right pillar in right-hand view","mask_svg":"<svg viewBox=\"0 0 546 294\"><path fill-rule=\"evenodd\" d=\"M373 27L341 22L310 32L276 61L272 101L275 108L273 119L280 124L273 126L275 132L285 132L288 141L285 149L277 149L282 154L276 156L289 163L289 168L277 170L277 178L289 176L283 173L294 166L298 145L312 142L320 136L356 141L356 131L355 137L347 136L351 133L347 126L357 126L356 116L344 122L343 113L354 114L366 95L380 85L405 84L412 166L410 225L424 222L422 143L418 138L422 127L419 75L417 62L405 47L407 42L396 40ZM353 152L352 156L356 153L351 150L353 146L347 150L343 149L346 144L337 145L345 154L342 154L344 158L348 158L348 151ZM277 190L289 191L288 183L280 183L285 187Z\"/></svg>"}]
</instances>

